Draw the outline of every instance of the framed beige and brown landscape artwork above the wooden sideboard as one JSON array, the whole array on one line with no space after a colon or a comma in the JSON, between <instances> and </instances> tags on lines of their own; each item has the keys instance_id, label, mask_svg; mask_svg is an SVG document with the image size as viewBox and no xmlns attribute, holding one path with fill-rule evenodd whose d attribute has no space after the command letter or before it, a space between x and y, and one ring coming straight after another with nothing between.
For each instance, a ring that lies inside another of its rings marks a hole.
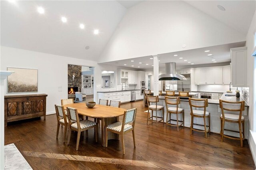
<instances>
[{"instance_id":1,"label":"framed beige and brown landscape artwork above the wooden sideboard","mask_svg":"<svg viewBox=\"0 0 256 170\"><path fill-rule=\"evenodd\" d=\"M7 67L7 71L15 71L7 77L7 93L38 92L37 69Z\"/></svg>"}]
</instances>

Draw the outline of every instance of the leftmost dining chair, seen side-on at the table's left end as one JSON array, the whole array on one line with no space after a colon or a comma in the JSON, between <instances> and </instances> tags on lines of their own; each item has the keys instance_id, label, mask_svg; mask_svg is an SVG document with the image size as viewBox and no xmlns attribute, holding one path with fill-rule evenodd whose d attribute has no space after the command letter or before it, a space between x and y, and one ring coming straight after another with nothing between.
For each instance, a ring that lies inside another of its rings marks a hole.
<instances>
[{"instance_id":1,"label":"leftmost dining chair, seen side-on at the table's left end","mask_svg":"<svg viewBox=\"0 0 256 170\"><path fill-rule=\"evenodd\" d=\"M63 106L55 105L55 111L57 116L57 132L56 132L56 139L58 139L60 125L64 125L64 142L66 140L66 134L68 129L68 117L66 117L65 110Z\"/></svg>"}]
</instances>

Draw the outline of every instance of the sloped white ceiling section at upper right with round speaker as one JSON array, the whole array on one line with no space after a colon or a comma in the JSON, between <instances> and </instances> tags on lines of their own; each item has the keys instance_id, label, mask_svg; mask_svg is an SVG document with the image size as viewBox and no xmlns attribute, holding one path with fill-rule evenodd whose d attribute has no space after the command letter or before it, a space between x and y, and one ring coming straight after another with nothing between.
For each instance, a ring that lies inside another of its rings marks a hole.
<instances>
[{"instance_id":1,"label":"sloped white ceiling section at upper right with round speaker","mask_svg":"<svg viewBox=\"0 0 256 170\"><path fill-rule=\"evenodd\" d=\"M255 0L185 0L198 10L236 29L246 36L256 9ZM217 5L223 6L221 11Z\"/></svg>"}]
</instances>

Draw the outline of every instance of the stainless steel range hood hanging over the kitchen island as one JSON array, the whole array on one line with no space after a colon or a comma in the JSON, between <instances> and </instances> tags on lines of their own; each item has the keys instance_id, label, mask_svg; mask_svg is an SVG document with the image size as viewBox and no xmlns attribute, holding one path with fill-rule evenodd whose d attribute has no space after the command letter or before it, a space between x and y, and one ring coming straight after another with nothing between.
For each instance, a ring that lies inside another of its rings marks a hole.
<instances>
[{"instance_id":1,"label":"stainless steel range hood hanging over the kitchen island","mask_svg":"<svg viewBox=\"0 0 256 170\"><path fill-rule=\"evenodd\" d=\"M159 75L159 80L187 80L184 75L176 74L176 63L165 63L165 73Z\"/></svg>"}]
</instances>

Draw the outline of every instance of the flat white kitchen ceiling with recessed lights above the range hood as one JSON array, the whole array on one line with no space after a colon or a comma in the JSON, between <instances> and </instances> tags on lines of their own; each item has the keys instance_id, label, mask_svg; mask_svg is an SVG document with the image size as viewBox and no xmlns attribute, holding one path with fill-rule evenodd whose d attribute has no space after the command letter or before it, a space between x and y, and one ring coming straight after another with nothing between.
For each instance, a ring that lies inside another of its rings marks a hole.
<instances>
[{"instance_id":1,"label":"flat white kitchen ceiling with recessed lights above the range hood","mask_svg":"<svg viewBox=\"0 0 256 170\"><path fill-rule=\"evenodd\" d=\"M212 47L178 51L173 53L158 54L159 60L160 60L159 67L165 67L165 63L169 63L169 62L176 62L176 66L186 66L186 65L189 66L191 65L191 63L194 63L194 65L213 64L212 59L215 59L216 63L228 62L228 61L231 61L230 48L243 47L244 45L245 45L245 42L238 42L238 43L230 43L230 44L224 44L224 45L216 45ZM204 52L206 50L210 50L210 51ZM208 56L208 54L212 54L212 56ZM178 55L178 56L174 56L174 55ZM150 59L151 57L152 56L145 56L145 57L138 57L138 58L132 58L132 59L124 59L124 60L106 62L104 64L115 65L118 67L134 68L134 69L150 69L152 68L152 65L153 65L153 59ZM179 59L180 57L182 57L182 59ZM133 60L133 62L131 60ZM184 61L184 60L187 60L187 61ZM191 63L188 63L189 61ZM132 65L134 66L132 67Z\"/></svg>"}]
</instances>

